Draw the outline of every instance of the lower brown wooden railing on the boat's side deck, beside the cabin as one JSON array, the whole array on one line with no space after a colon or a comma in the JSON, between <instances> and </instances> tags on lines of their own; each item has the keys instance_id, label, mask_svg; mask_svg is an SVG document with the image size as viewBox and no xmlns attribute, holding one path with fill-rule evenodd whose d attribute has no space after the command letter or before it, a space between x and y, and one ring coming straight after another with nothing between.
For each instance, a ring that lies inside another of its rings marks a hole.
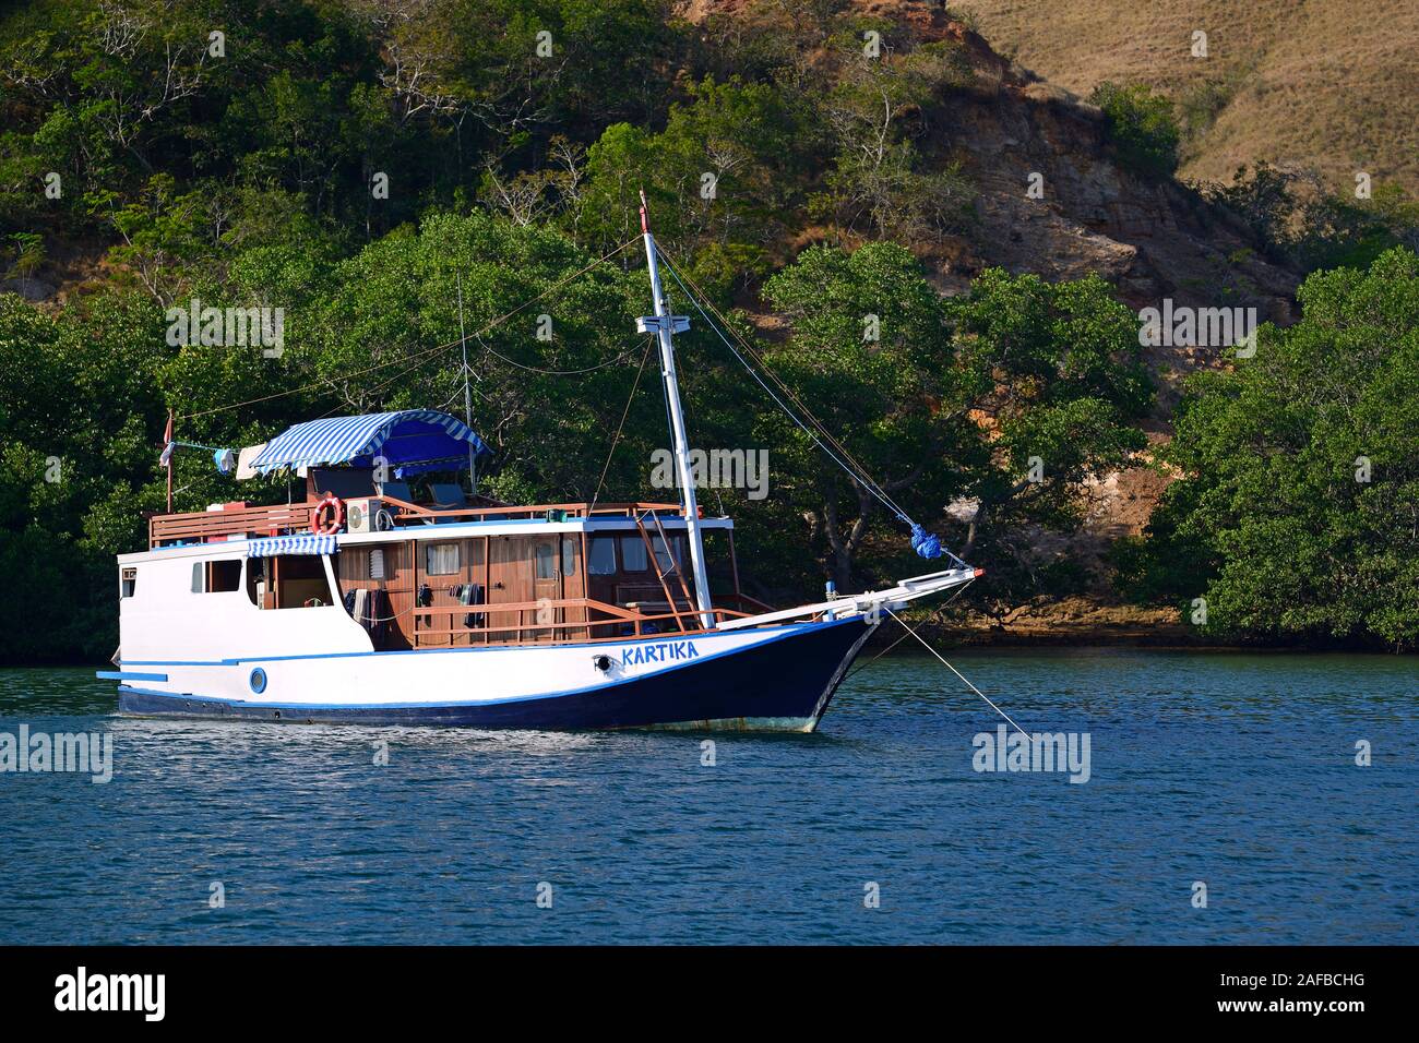
<instances>
[{"instance_id":1,"label":"lower brown wooden railing on the boat's side deck, beside the cabin","mask_svg":"<svg viewBox=\"0 0 1419 1043\"><path fill-rule=\"evenodd\" d=\"M566 609L583 609L587 613L587 619L565 619ZM607 619L590 619L590 613L602 613ZM552 619L534 617L526 619L528 613L535 613L542 616L549 613ZM414 617L413 629L413 646L419 647L448 647L450 644L460 644L458 637L467 637L468 644L525 644L524 633L548 633L546 639L534 637L532 641L543 641L548 644L559 644L566 641L622 641L626 637L644 637L651 633L660 633L666 636L694 636L707 633L705 627L700 622L698 609L685 610L671 610L661 613L644 613L634 609L623 609L619 605L607 605L606 602L597 602L590 597L565 597L565 599L546 599L541 602L502 602L492 605L443 605L438 607L433 606L417 606L412 610ZM508 623L494 623L494 616L511 616L515 614L515 622ZM562 614L563 619L556 619ZM715 623L721 623L728 619L744 619L749 613L735 612L732 609L711 609ZM440 629L431 629L426 626L436 616L448 616L450 622L453 616L481 616L482 626L448 626ZM687 626L687 622L690 626ZM648 629L650 627L654 629ZM602 627L630 627L629 634L610 634L595 637L593 630ZM569 634L566 637L558 636L559 631L573 630L583 631L582 634ZM507 639L494 640L494 634L509 634ZM482 640L477 640L482 637ZM438 641L431 641L429 639L443 639Z\"/></svg>"}]
</instances>

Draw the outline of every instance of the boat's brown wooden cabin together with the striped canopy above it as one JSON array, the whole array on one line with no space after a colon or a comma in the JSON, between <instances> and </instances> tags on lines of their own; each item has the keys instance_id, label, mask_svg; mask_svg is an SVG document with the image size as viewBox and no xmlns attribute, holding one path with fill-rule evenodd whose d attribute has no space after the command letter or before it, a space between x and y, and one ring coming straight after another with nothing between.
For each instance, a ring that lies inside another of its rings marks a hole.
<instances>
[{"instance_id":1,"label":"boat's brown wooden cabin together with the striped canopy above it","mask_svg":"<svg viewBox=\"0 0 1419 1043\"><path fill-rule=\"evenodd\" d=\"M308 421L245 451L253 474L304 475L304 502L158 515L149 546L244 541L230 556L203 555L193 590L244 587L271 610L341 603L376 650L692 633L768 607L739 589L728 518L695 518L707 612L678 504L470 497L457 475L485 447L443 413Z\"/></svg>"}]
</instances>

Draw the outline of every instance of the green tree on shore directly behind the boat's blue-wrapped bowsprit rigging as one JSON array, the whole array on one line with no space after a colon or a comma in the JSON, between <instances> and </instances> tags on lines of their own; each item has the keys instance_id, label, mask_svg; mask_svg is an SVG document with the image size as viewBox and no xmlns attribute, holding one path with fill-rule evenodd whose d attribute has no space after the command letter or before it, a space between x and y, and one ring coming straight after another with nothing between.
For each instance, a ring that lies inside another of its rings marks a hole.
<instances>
[{"instance_id":1,"label":"green tree on shore directly behind the boat's blue-wrapped bowsprit rigging","mask_svg":"<svg viewBox=\"0 0 1419 1043\"><path fill-rule=\"evenodd\" d=\"M812 403L832 436L820 431L819 441L858 463L908 515L934 514L964 487L951 461L971 424L941 299L921 265L891 243L851 254L813 247L765 284L765 297L793 328L765 360ZM763 414L756 434L783 461L776 494L809 521L826 575L851 589L853 562L884 505L782 414Z\"/></svg>"}]
</instances>

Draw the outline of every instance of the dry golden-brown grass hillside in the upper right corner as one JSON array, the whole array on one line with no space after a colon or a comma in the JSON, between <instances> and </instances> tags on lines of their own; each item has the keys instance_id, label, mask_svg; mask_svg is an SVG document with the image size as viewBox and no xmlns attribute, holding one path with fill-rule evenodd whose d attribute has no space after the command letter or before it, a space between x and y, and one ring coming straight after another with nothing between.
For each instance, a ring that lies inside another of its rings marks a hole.
<instances>
[{"instance_id":1,"label":"dry golden-brown grass hillside in the upper right corner","mask_svg":"<svg viewBox=\"0 0 1419 1043\"><path fill-rule=\"evenodd\" d=\"M1242 163L1357 170L1419 194L1419 3L1415 0L961 0L992 45L1087 95L1147 82L1189 116L1183 177ZM1193 58L1192 34L1208 34Z\"/></svg>"}]
</instances>

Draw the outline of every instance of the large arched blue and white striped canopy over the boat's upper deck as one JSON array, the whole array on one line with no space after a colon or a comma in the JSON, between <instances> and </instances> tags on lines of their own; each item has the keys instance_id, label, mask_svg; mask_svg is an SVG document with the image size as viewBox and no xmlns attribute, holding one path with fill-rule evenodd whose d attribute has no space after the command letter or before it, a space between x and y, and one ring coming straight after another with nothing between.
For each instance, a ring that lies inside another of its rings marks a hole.
<instances>
[{"instance_id":1,"label":"large arched blue and white striped canopy over the boat's upper deck","mask_svg":"<svg viewBox=\"0 0 1419 1043\"><path fill-rule=\"evenodd\" d=\"M271 438L251 461L258 474L284 467L316 464L352 464L372 467L383 457L406 471L431 470L430 464L455 467L468 458L468 446L482 456L491 453L474 431L457 417L431 409L406 409L400 413L309 420Z\"/></svg>"}]
</instances>

